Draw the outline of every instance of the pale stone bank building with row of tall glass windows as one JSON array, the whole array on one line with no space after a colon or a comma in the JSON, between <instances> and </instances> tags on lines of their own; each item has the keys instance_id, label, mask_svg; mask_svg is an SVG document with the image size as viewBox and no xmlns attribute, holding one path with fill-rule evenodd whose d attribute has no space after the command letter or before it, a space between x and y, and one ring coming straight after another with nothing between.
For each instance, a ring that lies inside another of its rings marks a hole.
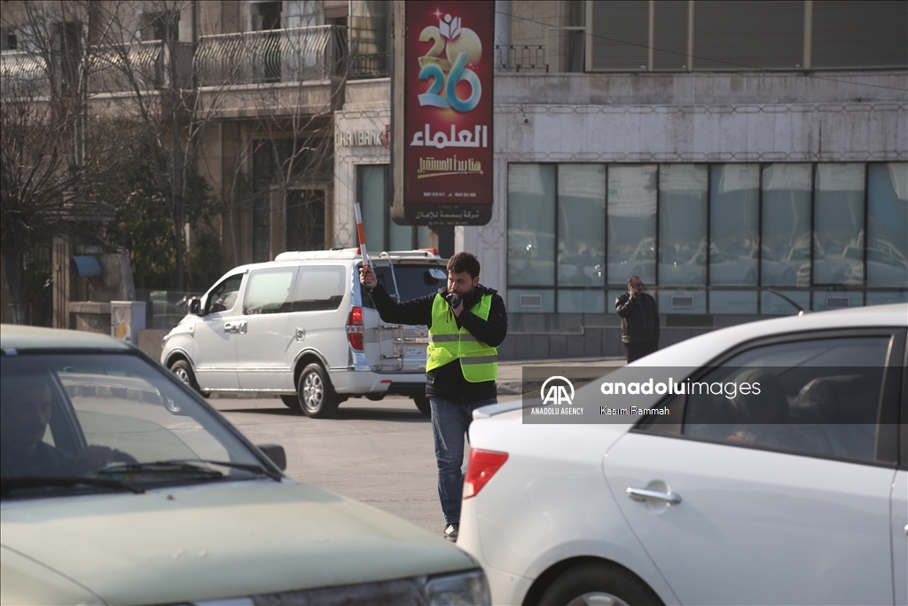
<instances>
[{"instance_id":1,"label":"pale stone bank building with row of tall glass windows","mask_svg":"<svg viewBox=\"0 0 908 606\"><path fill-rule=\"evenodd\" d=\"M908 301L908 5L496 5L493 217L455 247L505 296L503 355L620 354L632 274L663 344ZM349 93L336 131L380 129L379 97ZM340 213L390 162L356 141Z\"/></svg>"}]
</instances>

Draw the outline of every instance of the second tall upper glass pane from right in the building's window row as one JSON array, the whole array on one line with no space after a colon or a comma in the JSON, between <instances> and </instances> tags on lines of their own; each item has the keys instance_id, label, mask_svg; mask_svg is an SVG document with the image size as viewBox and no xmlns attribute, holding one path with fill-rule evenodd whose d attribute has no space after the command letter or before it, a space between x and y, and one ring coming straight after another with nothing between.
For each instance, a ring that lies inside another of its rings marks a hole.
<instances>
[{"instance_id":1,"label":"second tall upper glass pane from right in the building's window row","mask_svg":"<svg viewBox=\"0 0 908 606\"><path fill-rule=\"evenodd\" d=\"M814 284L861 284L864 164L817 164Z\"/></svg>"}]
</instances>

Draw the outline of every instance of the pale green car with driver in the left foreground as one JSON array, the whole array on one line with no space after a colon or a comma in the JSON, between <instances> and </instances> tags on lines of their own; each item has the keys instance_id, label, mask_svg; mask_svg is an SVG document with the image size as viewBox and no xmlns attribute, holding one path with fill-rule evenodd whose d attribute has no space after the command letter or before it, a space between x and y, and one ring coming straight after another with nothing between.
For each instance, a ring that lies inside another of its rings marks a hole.
<instances>
[{"instance_id":1,"label":"pale green car with driver in the left foreground","mask_svg":"<svg viewBox=\"0 0 908 606\"><path fill-rule=\"evenodd\" d=\"M281 474L162 366L0 331L3 604L489 604L477 561Z\"/></svg>"}]
</instances>

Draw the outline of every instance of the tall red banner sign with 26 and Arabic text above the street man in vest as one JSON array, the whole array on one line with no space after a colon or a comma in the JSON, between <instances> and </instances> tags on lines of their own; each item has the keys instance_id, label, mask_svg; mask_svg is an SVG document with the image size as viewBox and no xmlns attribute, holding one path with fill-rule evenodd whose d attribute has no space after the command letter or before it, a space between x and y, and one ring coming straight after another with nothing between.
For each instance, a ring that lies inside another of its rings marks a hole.
<instances>
[{"instance_id":1,"label":"tall red banner sign with 26 and Arabic text above the street man in vest","mask_svg":"<svg viewBox=\"0 0 908 606\"><path fill-rule=\"evenodd\" d=\"M407 2L403 205L409 224L492 213L494 2Z\"/></svg>"}]
</instances>

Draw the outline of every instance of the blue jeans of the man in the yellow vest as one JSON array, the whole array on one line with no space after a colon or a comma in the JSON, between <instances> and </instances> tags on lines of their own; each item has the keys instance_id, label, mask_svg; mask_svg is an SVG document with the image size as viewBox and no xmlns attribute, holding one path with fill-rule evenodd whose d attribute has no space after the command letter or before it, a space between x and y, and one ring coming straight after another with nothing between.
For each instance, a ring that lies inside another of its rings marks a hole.
<instances>
[{"instance_id":1,"label":"blue jeans of the man in the yellow vest","mask_svg":"<svg viewBox=\"0 0 908 606\"><path fill-rule=\"evenodd\" d=\"M460 522L460 499L463 496L463 444L473 420L473 411L498 402L498 398L459 404L429 396L432 407L432 441L435 461L439 465L439 501L445 524Z\"/></svg>"}]
</instances>

